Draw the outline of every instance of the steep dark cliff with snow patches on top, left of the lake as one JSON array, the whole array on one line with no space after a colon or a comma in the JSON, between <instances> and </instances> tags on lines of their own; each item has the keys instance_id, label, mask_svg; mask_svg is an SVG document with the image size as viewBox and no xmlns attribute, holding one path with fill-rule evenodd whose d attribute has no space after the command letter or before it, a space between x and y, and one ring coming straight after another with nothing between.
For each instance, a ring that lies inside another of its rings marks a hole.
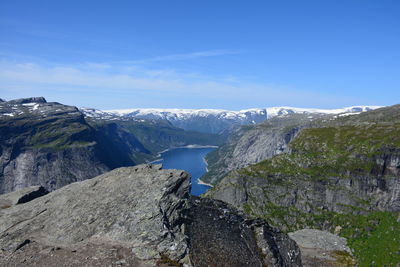
<instances>
[{"instance_id":1,"label":"steep dark cliff with snow patches on top, left of the lake","mask_svg":"<svg viewBox=\"0 0 400 267\"><path fill-rule=\"evenodd\" d=\"M150 154L118 126L99 131L75 107L27 98L0 103L0 193L54 190Z\"/></svg>"}]
</instances>

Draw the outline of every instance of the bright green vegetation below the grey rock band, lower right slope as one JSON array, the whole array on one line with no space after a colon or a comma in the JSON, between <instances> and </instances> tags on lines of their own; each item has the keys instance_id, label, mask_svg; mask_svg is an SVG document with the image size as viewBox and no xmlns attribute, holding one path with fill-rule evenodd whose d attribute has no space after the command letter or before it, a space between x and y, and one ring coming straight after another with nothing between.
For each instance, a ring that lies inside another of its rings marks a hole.
<instances>
[{"instance_id":1,"label":"bright green vegetation below the grey rock band, lower right slope","mask_svg":"<svg viewBox=\"0 0 400 267\"><path fill-rule=\"evenodd\" d=\"M347 238L359 266L397 266L400 262L400 213L373 211L362 214L319 211L302 212L295 207L265 205L250 201L243 205L244 212L265 219L287 232L304 228L327 229ZM349 255L338 255L351 265ZM346 266L344 264L344 266Z\"/></svg>"}]
</instances>

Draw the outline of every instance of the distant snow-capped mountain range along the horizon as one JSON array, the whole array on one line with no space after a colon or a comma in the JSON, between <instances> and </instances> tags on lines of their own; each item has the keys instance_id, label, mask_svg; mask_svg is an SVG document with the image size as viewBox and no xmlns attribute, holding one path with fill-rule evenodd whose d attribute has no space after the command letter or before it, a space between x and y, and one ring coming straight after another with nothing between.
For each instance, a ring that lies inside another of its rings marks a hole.
<instances>
[{"instance_id":1,"label":"distant snow-capped mountain range along the horizon","mask_svg":"<svg viewBox=\"0 0 400 267\"><path fill-rule=\"evenodd\" d=\"M260 123L266 119L291 113L301 114L351 114L359 113L379 106L354 106L341 109L313 109L293 107L254 108L240 111L221 109L117 109L96 110L82 108L88 117L113 119L136 118L145 120L167 120L172 125L206 133L221 133L232 127Z\"/></svg>"}]
</instances>

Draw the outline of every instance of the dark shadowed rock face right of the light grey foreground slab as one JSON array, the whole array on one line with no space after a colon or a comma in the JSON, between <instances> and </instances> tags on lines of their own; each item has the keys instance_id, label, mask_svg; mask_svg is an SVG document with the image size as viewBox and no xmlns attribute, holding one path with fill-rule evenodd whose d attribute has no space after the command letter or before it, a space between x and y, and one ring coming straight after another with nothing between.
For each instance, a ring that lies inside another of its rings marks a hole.
<instances>
[{"instance_id":1,"label":"dark shadowed rock face right of the light grey foreground slab","mask_svg":"<svg viewBox=\"0 0 400 267\"><path fill-rule=\"evenodd\" d=\"M192 197L187 224L194 266L302 266L286 234L224 202Z\"/></svg>"}]
</instances>

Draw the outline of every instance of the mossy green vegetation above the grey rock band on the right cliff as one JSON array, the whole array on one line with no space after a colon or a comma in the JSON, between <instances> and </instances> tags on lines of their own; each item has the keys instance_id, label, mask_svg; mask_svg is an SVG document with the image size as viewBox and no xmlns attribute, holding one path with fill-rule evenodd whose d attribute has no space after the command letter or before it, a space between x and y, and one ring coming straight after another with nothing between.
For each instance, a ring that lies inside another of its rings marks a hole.
<instances>
[{"instance_id":1,"label":"mossy green vegetation above the grey rock band on the right cliff","mask_svg":"<svg viewBox=\"0 0 400 267\"><path fill-rule=\"evenodd\" d=\"M241 173L317 180L381 173L382 166L375 159L388 149L400 147L399 132L400 123L305 129L290 144L292 153L252 165Z\"/></svg>"}]
</instances>

